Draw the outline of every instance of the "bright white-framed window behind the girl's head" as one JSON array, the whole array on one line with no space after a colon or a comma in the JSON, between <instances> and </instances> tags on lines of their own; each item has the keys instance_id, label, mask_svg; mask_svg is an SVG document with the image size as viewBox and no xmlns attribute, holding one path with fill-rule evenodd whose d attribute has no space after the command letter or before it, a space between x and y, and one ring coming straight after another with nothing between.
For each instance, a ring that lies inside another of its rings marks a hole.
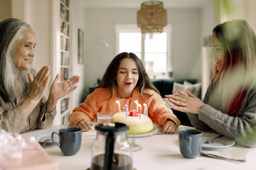
<instances>
[{"instance_id":1,"label":"bright white-framed window behind the girl's head","mask_svg":"<svg viewBox=\"0 0 256 170\"><path fill-rule=\"evenodd\" d=\"M119 25L116 34L117 52L135 53L142 60L150 78L166 76L166 73L171 70L170 49L168 49L170 31L164 31L161 34L141 34L139 28L122 29Z\"/></svg>"}]
</instances>

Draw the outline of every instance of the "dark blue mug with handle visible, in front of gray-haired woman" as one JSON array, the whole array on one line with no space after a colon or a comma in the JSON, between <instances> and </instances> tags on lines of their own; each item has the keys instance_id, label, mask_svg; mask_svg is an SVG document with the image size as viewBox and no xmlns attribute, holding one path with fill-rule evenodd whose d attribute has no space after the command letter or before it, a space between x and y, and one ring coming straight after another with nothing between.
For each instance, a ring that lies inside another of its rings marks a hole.
<instances>
[{"instance_id":1,"label":"dark blue mug with handle visible, in front of gray-haired woman","mask_svg":"<svg viewBox=\"0 0 256 170\"><path fill-rule=\"evenodd\" d=\"M60 141L54 141L54 134L59 136ZM58 145L64 155L76 155L81 148L82 129L79 127L67 127L58 132L52 132L52 142Z\"/></svg>"}]
</instances>

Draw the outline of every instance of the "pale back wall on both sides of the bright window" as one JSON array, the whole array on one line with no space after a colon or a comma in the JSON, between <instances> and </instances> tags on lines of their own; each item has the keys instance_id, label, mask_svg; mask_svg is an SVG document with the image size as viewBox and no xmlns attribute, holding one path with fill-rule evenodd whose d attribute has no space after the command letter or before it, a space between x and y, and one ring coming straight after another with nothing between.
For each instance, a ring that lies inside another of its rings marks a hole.
<instances>
[{"instance_id":1,"label":"pale back wall on both sides of the bright window","mask_svg":"<svg viewBox=\"0 0 256 170\"><path fill-rule=\"evenodd\" d=\"M102 78L109 62L116 55L115 23L136 23L139 9L86 8L84 87ZM200 8L174 8L168 10L168 24L172 24L172 62L175 78L201 79L200 42L202 41ZM109 48L100 45L108 41ZM134 39L136 41L136 39ZM131 42L132 43L132 42ZM88 91L87 91L88 92Z\"/></svg>"}]
</instances>

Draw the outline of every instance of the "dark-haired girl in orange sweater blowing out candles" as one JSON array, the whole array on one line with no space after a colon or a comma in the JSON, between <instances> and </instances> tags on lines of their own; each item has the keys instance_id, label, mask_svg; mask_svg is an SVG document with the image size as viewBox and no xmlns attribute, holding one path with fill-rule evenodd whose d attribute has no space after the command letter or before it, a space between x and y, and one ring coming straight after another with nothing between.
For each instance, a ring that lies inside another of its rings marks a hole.
<instances>
[{"instance_id":1,"label":"dark-haired girl in orange sweater blowing out candles","mask_svg":"<svg viewBox=\"0 0 256 170\"><path fill-rule=\"evenodd\" d=\"M163 127L163 132L176 133L179 120L166 108L158 90L148 78L141 60L134 53L120 53L109 64L100 85L90 94L84 103L73 110L69 117L70 125L89 131L90 122L99 111L118 113L116 100L121 106L129 103L129 110L136 109L136 103L148 106L147 116L152 122ZM125 110L123 110L125 111Z\"/></svg>"}]
</instances>

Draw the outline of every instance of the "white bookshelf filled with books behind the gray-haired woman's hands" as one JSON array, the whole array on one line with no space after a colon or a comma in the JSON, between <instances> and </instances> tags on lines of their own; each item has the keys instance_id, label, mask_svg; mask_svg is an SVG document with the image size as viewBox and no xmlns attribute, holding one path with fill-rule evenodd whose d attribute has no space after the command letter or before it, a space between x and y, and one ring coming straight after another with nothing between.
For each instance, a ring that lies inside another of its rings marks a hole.
<instances>
[{"instance_id":1,"label":"white bookshelf filled with books behind the gray-haired woman's hands","mask_svg":"<svg viewBox=\"0 0 256 170\"><path fill-rule=\"evenodd\" d=\"M72 76L72 38L70 25L70 0L52 2L52 77L60 74L60 81ZM54 125L68 124L72 113L72 93L62 97L56 106Z\"/></svg>"}]
</instances>

